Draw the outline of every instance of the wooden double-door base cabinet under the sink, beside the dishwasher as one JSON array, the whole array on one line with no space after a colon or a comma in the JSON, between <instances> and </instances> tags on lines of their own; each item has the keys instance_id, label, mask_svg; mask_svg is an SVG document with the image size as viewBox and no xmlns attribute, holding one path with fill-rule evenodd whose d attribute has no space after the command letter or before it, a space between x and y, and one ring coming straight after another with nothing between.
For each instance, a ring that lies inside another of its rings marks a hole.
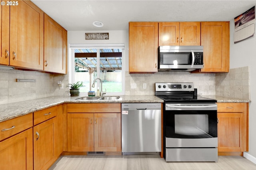
<instances>
[{"instance_id":1,"label":"wooden double-door base cabinet under the sink, beside the dishwasher","mask_svg":"<svg viewBox=\"0 0 256 170\"><path fill-rule=\"evenodd\" d=\"M114 103L68 104L68 152L121 152L120 109Z\"/></svg>"}]
</instances>

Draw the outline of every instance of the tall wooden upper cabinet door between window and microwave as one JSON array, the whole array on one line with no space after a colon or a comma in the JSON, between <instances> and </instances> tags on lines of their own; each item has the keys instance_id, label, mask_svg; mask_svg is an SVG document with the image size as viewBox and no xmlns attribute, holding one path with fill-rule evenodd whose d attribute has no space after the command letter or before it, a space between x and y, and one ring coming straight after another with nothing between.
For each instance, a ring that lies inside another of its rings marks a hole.
<instances>
[{"instance_id":1,"label":"tall wooden upper cabinet door between window and microwave","mask_svg":"<svg viewBox=\"0 0 256 170\"><path fill-rule=\"evenodd\" d=\"M129 23L129 73L158 71L158 23Z\"/></svg>"}]
</instances>

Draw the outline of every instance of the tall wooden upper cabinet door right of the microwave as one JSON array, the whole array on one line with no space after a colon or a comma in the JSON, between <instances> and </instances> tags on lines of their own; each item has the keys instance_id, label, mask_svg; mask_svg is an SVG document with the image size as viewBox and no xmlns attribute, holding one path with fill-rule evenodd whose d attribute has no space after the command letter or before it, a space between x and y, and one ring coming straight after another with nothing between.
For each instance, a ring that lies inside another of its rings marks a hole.
<instances>
[{"instance_id":1,"label":"tall wooden upper cabinet door right of the microwave","mask_svg":"<svg viewBox=\"0 0 256 170\"><path fill-rule=\"evenodd\" d=\"M201 22L204 68L200 72L229 71L229 22Z\"/></svg>"}]
</instances>

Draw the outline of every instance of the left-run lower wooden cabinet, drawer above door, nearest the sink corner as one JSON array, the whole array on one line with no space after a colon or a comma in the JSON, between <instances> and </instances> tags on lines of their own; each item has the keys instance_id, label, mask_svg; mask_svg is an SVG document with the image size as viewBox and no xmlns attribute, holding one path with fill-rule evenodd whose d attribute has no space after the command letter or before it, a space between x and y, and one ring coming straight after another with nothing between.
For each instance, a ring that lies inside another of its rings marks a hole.
<instances>
[{"instance_id":1,"label":"left-run lower wooden cabinet, drawer above door, nearest the sink corner","mask_svg":"<svg viewBox=\"0 0 256 170\"><path fill-rule=\"evenodd\" d=\"M63 152L62 105L34 112L34 170L48 169Z\"/></svg>"}]
</instances>

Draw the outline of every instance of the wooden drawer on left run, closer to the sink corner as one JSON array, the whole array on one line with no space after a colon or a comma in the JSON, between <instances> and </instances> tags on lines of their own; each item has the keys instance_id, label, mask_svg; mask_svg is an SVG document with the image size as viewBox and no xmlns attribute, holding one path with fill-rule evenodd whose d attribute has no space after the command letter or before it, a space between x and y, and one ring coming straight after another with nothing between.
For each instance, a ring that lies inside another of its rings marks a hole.
<instances>
[{"instance_id":1,"label":"wooden drawer on left run, closer to the sink corner","mask_svg":"<svg viewBox=\"0 0 256 170\"><path fill-rule=\"evenodd\" d=\"M42 111L34 112L34 125L42 123L48 119L57 116L57 106L49 107Z\"/></svg>"}]
</instances>

